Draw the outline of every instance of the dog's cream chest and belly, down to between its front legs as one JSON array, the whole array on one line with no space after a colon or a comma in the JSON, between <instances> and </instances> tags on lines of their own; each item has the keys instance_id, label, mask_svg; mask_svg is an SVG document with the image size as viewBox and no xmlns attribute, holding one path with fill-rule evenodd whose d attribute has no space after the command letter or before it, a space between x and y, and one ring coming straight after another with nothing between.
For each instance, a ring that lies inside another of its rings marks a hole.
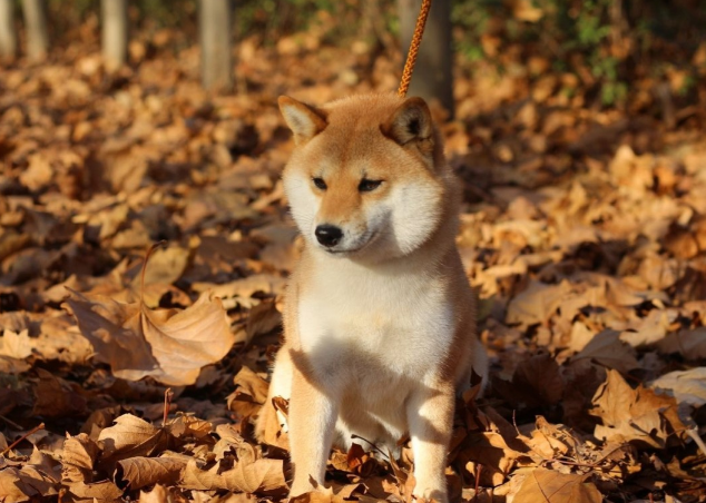
<instances>
[{"instance_id":1,"label":"dog's cream chest and belly, down to between its front legs","mask_svg":"<svg viewBox=\"0 0 706 503\"><path fill-rule=\"evenodd\" d=\"M315 381L341 397L339 443L356 434L394 447L408 428L409 396L433 385L450 351L454 316L443 288L361 272L316 282L300 296L297 315Z\"/></svg>"}]
</instances>

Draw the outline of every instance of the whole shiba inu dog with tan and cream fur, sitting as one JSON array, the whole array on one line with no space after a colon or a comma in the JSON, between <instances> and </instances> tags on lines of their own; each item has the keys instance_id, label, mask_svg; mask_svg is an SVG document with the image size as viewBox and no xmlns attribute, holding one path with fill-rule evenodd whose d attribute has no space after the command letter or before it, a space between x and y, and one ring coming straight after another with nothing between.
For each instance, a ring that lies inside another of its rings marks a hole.
<instances>
[{"instance_id":1,"label":"whole shiba inu dog with tan and cream fur, sitting","mask_svg":"<svg viewBox=\"0 0 706 503\"><path fill-rule=\"evenodd\" d=\"M256 435L280 427L272 398L288 398L294 496L324 483L334 442L394 448L409 433L414 496L445 502L455 395L487 357L454 241L459 183L429 108L370 95L321 108L281 97L280 109L304 249Z\"/></svg>"}]
</instances>

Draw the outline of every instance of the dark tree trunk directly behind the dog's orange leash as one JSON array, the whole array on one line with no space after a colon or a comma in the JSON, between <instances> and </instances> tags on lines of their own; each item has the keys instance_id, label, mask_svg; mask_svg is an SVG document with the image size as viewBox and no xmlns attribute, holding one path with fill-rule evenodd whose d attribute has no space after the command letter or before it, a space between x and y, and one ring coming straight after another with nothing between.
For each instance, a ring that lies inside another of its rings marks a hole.
<instances>
[{"instance_id":1,"label":"dark tree trunk directly behind the dog's orange leash","mask_svg":"<svg viewBox=\"0 0 706 503\"><path fill-rule=\"evenodd\" d=\"M412 41L422 0L398 0L402 50ZM451 0L433 0L408 96L439 102L453 116Z\"/></svg>"}]
</instances>

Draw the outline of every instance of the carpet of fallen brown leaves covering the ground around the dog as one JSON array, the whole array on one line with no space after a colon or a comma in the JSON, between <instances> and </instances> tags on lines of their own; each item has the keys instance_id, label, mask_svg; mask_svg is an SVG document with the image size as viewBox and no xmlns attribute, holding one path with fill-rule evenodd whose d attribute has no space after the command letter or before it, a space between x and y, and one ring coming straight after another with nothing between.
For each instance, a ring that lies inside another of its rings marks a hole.
<instances>
[{"instance_id":1,"label":"carpet of fallen brown leaves covering the ground around the dog","mask_svg":"<svg viewBox=\"0 0 706 503\"><path fill-rule=\"evenodd\" d=\"M0 73L0 501L282 501L286 433L252 437L297 253L274 103L391 91L400 56L246 39L210 96L196 49L107 73L91 43ZM516 67L459 75L442 126L493 361L452 499L706 501L704 115ZM361 438L296 501L409 501L412 462Z\"/></svg>"}]
</instances>

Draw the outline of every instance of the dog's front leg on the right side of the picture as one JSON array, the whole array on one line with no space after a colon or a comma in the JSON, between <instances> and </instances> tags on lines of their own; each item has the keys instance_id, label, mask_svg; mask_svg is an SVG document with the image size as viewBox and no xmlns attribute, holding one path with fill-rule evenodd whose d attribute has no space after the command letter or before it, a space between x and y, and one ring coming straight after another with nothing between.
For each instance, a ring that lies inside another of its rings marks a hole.
<instances>
[{"instance_id":1,"label":"dog's front leg on the right side of the picture","mask_svg":"<svg viewBox=\"0 0 706 503\"><path fill-rule=\"evenodd\" d=\"M414 454L414 496L426 501L448 502L447 454L451 441L453 386L424 387L413 392L406 414Z\"/></svg>"}]
</instances>

